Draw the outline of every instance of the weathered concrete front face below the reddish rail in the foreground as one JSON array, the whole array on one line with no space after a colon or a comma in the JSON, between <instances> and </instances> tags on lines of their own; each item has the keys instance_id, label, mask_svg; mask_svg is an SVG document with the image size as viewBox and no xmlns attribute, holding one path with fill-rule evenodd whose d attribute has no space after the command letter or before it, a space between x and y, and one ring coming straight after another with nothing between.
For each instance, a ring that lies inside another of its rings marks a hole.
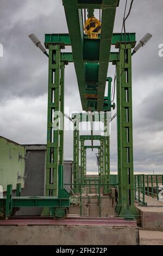
<instances>
[{"instance_id":1,"label":"weathered concrete front face below the reddish rail in the foreground","mask_svg":"<svg viewBox=\"0 0 163 256\"><path fill-rule=\"evenodd\" d=\"M139 229L109 225L33 225L0 229L0 245L139 245Z\"/></svg>"}]
</instances>

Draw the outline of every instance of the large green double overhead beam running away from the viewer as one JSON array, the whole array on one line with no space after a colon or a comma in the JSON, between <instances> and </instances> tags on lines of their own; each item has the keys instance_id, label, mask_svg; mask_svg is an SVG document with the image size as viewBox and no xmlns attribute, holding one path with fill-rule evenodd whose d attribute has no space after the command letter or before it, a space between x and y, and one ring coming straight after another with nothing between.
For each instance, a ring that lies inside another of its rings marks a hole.
<instances>
[{"instance_id":1,"label":"large green double overhead beam running away from the viewer","mask_svg":"<svg viewBox=\"0 0 163 256\"><path fill-rule=\"evenodd\" d=\"M98 3L98 9L102 9L102 32L98 46L99 63L84 62L85 44L83 33L83 15L82 9L79 7L79 5L83 5L83 3L79 3L78 0L62 0L62 2L65 8L67 26L73 52L74 66L76 69L83 110L102 111L106 75L110 58L112 31L114 27L115 12L118 1L112 0L110 2L110 0L103 0L101 3ZM84 3L85 7L87 4L88 3ZM89 7L86 7L86 9L96 9L96 3L91 1L89 3ZM92 44L95 44L93 43L95 40L90 41L92 41ZM95 89L97 90L97 93L94 95L86 94L85 89Z\"/></svg>"}]
</instances>

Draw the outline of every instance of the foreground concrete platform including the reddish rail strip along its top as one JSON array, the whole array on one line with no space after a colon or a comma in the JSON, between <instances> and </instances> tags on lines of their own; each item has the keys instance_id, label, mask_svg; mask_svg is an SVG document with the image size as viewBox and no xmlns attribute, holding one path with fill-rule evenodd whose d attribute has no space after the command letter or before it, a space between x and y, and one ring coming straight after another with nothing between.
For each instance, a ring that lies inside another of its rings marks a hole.
<instances>
[{"instance_id":1,"label":"foreground concrete platform including the reddish rail strip along its top","mask_svg":"<svg viewBox=\"0 0 163 256\"><path fill-rule=\"evenodd\" d=\"M0 245L139 245L135 221L123 218L0 221Z\"/></svg>"}]
</instances>

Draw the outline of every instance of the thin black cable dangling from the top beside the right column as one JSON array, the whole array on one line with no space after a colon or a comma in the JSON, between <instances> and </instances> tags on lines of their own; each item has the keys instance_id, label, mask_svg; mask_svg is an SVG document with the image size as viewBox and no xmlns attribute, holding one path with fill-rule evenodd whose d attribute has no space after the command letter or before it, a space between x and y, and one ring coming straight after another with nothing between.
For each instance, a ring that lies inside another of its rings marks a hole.
<instances>
[{"instance_id":1,"label":"thin black cable dangling from the top beside the right column","mask_svg":"<svg viewBox=\"0 0 163 256\"><path fill-rule=\"evenodd\" d=\"M126 15L126 9L127 9L127 2L128 0L126 0L126 4L125 4L125 8L124 8L124 16L123 16L123 23L122 23L122 31L121 31L121 34L123 32L123 29L124 29L124 44L125 44L125 49L124 49L124 54L126 55L126 46L127 46L127 41L126 41L126 20L128 19L130 13L131 13L131 9L132 9L132 6L133 6L133 2L134 0L131 0L131 3L130 3L130 8L129 8L129 11L128 11L128 14L127 16L125 17ZM111 92L111 99L112 99L112 95L114 96L113 99L111 100L111 102L114 101L114 98L115 98L115 83L116 83L116 78L120 78L124 72L124 66L125 66L125 62L126 62L126 57L124 56L124 65L123 65L123 70L121 72L121 75L120 76L116 76L116 71L115 71L115 76L114 76L114 84L113 84L113 87L112 87L112 92Z\"/></svg>"}]
</instances>

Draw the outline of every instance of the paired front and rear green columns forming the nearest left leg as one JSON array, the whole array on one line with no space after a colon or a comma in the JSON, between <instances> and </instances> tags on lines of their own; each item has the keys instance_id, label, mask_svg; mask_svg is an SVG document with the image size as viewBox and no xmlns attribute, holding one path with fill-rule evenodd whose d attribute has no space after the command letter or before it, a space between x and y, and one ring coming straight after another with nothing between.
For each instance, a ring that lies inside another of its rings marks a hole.
<instances>
[{"instance_id":1,"label":"paired front and rear green columns forming the nearest left leg","mask_svg":"<svg viewBox=\"0 0 163 256\"><path fill-rule=\"evenodd\" d=\"M60 111L64 114L64 68L65 64L60 60L60 44L49 44L46 196L58 197L60 190L58 166L63 164L64 132L59 130L59 123ZM42 215L49 214L49 209L44 208Z\"/></svg>"}]
</instances>

